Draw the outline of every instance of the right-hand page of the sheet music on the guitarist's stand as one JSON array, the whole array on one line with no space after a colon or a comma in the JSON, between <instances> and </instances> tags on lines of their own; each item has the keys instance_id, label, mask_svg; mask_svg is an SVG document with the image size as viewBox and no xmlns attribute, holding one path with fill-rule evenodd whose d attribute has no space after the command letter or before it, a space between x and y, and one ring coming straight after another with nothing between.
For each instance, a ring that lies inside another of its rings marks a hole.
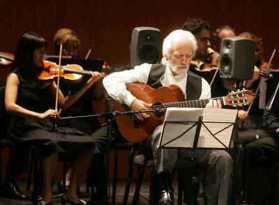
<instances>
[{"instance_id":1,"label":"right-hand page of the sheet music on the guitarist's stand","mask_svg":"<svg viewBox=\"0 0 279 205\"><path fill-rule=\"evenodd\" d=\"M232 123L236 121L237 110L236 109L211 109L206 108L202 114L204 125L209 128L215 137L220 142L229 147L229 142L232 137L232 130L234 126ZM219 122L219 123L209 123ZM229 126L229 127L228 127ZM224 130L223 130L224 129ZM203 125L199 134L198 148L216 148L225 149L226 147L218 142ZM216 134L219 132L218 134Z\"/></svg>"}]
</instances>

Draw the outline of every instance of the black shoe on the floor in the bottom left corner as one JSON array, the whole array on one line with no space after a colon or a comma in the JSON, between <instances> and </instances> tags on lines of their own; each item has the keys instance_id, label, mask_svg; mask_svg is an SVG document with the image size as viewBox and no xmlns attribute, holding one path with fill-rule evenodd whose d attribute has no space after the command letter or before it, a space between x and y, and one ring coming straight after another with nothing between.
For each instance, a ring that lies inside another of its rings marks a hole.
<instances>
[{"instance_id":1,"label":"black shoe on the floor in the bottom left corner","mask_svg":"<svg viewBox=\"0 0 279 205\"><path fill-rule=\"evenodd\" d=\"M8 199L27 200L28 197L20 191L16 183L4 182L0 188L0 196Z\"/></svg>"}]
</instances>

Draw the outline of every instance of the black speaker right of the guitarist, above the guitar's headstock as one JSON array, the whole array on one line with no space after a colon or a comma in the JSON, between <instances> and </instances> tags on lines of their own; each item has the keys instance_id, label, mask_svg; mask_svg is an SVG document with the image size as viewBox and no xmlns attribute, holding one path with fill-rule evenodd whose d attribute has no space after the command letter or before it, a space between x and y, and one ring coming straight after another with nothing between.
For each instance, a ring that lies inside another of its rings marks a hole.
<instances>
[{"instance_id":1,"label":"black speaker right of the guitarist, above the guitar's headstock","mask_svg":"<svg viewBox=\"0 0 279 205\"><path fill-rule=\"evenodd\" d=\"M240 36L224 38L220 47L220 76L227 79L251 79L255 67L254 40Z\"/></svg>"}]
</instances>

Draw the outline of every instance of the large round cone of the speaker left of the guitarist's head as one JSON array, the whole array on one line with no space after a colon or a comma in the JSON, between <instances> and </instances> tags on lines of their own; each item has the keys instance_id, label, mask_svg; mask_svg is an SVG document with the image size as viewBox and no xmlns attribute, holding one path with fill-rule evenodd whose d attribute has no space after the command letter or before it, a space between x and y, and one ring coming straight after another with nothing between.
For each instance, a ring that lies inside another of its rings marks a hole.
<instances>
[{"instance_id":1,"label":"large round cone of the speaker left of the guitarist's head","mask_svg":"<svg viewBox=\"0 0 279 205\"><path fill-rule=\"evenodd\" d=\"M139 59L145 63L158 63L159 52L157 47L153 45L144 45L139 52Z\"/></svg>"}]
</instances>

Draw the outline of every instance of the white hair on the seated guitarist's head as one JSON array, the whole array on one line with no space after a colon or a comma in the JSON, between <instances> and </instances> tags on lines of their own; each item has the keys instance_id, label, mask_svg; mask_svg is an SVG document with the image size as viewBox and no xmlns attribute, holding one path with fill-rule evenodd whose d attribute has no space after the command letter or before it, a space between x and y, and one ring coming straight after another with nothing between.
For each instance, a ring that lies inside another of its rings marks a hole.
<instances>
[{"instance_id":1,"label":"white hair on the seated guitarist's head","mask_svg":"<svg viewBox=\"0 0 279 205\"><path fill-rule=\"evenodd\" d=\"M183 42L183 41L190 43L190 45L192 45L192 54L193 57L195 56L197 50L197 41L195 39L195 36L193 36L193 34L190 33L189 31L175 30L172 31L172 33L169 33L169 35L163 41L163 59L162 59L163 63L166 63L164 56L165 55L169 56L174 42Z\"/></svg>"}]
</instances>

